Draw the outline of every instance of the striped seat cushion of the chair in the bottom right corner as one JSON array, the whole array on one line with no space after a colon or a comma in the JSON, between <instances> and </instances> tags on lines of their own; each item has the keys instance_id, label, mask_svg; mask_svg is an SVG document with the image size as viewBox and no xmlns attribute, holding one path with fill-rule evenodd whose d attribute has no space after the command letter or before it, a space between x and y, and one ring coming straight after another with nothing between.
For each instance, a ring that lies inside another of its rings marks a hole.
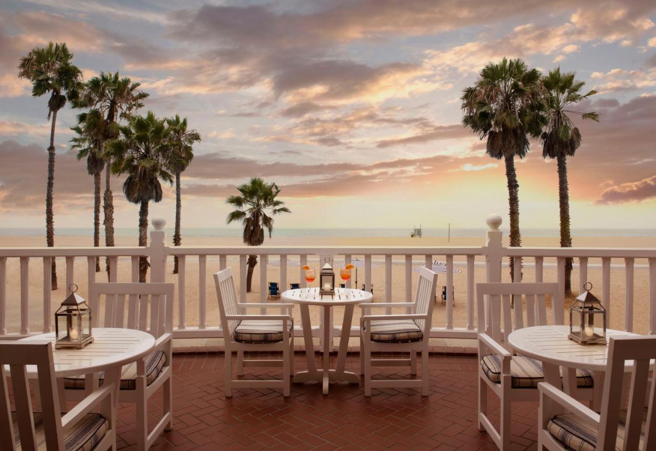
<instances>
[{"instance_id":1,"label":"striped seat cushion of the chair in the bottom right corner","mask_svg":"<svg viewBox=\"0 0 656 451\"><path fill-rule=\"evenodd\" d=\"M645 426L647 421L647 409L642 417L642 430L640 431L640 442L638 450L644 450ZM619 412L619 424L617 427L617 441L615 449L620 451L624 448L624 433L626 426L626 410ZM575 451L594 451L597 446L598 428L596 425L586 423L574 414L556 415L546 425L547 431L561 442L565 448Z\"/></svg>"}]
</instances>

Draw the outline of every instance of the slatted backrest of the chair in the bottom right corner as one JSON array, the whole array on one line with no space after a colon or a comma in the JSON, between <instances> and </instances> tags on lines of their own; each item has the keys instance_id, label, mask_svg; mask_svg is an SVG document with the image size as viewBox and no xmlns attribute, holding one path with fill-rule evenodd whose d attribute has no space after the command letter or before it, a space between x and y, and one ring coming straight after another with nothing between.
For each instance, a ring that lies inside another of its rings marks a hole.
<instances>
[{"instance_id":1,"label":"slatted backrest of the chair in the bottom right corner","mask_svg":"<svg viewBox=\"0 0 656 451\"><path fill-rule=\"evenodd\" d=\"M647 423L645 425L642 450L656 449L656 380L651 378L649 388L649 370L654 370L650 361L656 359L656 336L611 337L608 343L608 360L606 363L604 395L599 425L599 437L596 450L615 450L619 412L623 407L623 378L631 378L631 385L626 412L623 450L637 450L641 441L640 433L644 418L645 400L647 399ZM625 362L633 361L633 371L625 372ZM651 368L650 368L651 366Z\"/></svg>"}]
</instances>

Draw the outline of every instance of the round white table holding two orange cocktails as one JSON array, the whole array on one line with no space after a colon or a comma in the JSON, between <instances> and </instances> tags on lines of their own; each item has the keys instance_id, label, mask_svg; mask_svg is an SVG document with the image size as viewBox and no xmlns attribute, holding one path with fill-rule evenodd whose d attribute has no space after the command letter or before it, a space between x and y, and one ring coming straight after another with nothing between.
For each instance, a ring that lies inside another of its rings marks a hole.
<instances>
[{"instance_id":1,"label":"round white table holding two orange cocktails","mask_svg":"<svg viewBox=\"0 0 656 451\"><path fill-rule=\"evenodd\" d=\"M348 338L351 332L351 321L353 319L353 308L356 304L370 302L373 295L363 290L352 288L335 288L335 296L319 295L319 288L297 288L287 290L281 294L285 302L293 302L300 307L300 318L303 324L303 338L305 340L305 355L308 361L308 370L294 374L293 381L296 383L306 381L323 381L323 394L328 394L328 385L333 381L346 381L359 383L358 374L344 370L346 365L346 353L348 352ZM312 323L310 323L310 305L323 307L323 368L317 370L314 361L314 343L312 342ZM342 322L342 335L339 340L337 352L337 366L330 368L331 309L335 305L344 305L344 321Z\"/></svg>"}]
</instances>

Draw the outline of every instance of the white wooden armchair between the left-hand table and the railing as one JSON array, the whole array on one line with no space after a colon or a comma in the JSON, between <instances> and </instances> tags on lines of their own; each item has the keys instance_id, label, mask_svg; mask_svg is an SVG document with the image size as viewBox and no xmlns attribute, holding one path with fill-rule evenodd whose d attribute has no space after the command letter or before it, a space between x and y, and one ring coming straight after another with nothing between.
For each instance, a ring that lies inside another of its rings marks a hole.
<instances>
[{"instance_id":1,"label":"white wooden armchair between the left-hand table and the railing","mask_svg":"<svg viewBox=\"0 0 656 451\"><path fill-rule=\"evenodd\" d=\"M104 312L104 327L143 330L155 337L155 350L136 363L123 366L119 402L136 404L136 443L147 450L162 431L173 428L173 283L95 283L89 290L91 309ZM103 300L104 298L104 300ZM104 301L104 308L101 307ZM93 317L94 326L100 315ZM100 376L104 376L100 374ZM81 396L94 376L65 378L66 397ZM163 387L163 416L148 432L148 399Z\"/></svg>"}]
</instances>

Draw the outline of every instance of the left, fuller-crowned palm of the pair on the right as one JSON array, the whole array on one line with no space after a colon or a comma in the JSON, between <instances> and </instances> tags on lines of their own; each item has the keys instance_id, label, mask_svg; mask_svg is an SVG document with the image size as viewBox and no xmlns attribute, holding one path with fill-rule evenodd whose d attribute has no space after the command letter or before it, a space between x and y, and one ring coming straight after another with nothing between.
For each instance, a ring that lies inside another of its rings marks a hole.
<instances>
[{"instance_id":1,"label":"left, fuller-crowned palm of the pair on the right","mask_svg":"<svg viewBox=\"0 0 656 451\"><path fill-rule=\"evenodd\" d=\"M529 151L528 136L540 136L544 123L540 96L541 73L528 69L520 58L488 63L476 84L462 93L462 124L487 138L486 153L504 160L508 180L510 246L521 246L520 197L515 157ZM510 258L510 277L514 264Z\"/></svg>"}]
</instances>

